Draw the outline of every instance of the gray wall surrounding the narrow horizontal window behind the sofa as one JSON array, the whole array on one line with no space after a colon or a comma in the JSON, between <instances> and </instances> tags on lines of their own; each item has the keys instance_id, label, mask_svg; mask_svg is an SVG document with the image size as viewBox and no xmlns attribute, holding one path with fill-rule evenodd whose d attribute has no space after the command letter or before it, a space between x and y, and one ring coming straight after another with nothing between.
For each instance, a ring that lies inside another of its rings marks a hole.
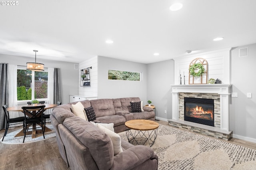
<instances>
[{"instance_id":1,"label":"gray wall surrounding the narrow horizontal window behind the sofa","mask_svg":"<svg viewBox=\"0 0 256 170\"><path fill-rule=\"evenodd\" d=\"M141 72L141 81L108 80L108 70ZM140 97L145 104L147 97L146 64L98 56L98 99Z\"/></svg>"}]
</instances>

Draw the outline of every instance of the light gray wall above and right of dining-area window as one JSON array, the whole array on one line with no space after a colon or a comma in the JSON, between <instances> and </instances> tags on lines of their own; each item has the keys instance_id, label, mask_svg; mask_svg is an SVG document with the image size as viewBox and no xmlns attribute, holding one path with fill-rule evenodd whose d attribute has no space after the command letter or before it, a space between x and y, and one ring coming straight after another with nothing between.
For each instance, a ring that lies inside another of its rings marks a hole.
<instances>
[{"instance_id":1,"label":"light gray wall above and right of dining-area window","mask_svg":"<svg viewBox=\"0 0 256 170\"><path fill-rule=\"evenodd\" d=\"M27 62L34 62L32 57L21 57L15 55L6 55L0 54L1 63L9 63L12 65L24 65L26 66ZM39 63L43 63L44 67L47 68L60 68L60 83L62 91L62 103L69 103L69 95L78 93L78 74L79 70L74 69L74 64L64 61L55 61L55 60L46 60L46 59L37 59Z\"/></svg>"}]
</instances>

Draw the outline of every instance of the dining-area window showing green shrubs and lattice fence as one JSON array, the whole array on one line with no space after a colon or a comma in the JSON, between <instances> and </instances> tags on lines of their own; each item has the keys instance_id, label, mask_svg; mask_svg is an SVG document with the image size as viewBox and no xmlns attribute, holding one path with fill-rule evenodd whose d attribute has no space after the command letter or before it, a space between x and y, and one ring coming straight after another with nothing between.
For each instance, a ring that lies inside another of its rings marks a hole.
<instances>
[{"instance_id":1,"label":"dining-area window showing green shrubs and lattice fence","mask_svg":"<svg viewBox=\"0 0 256 170\"><path fill-rule=\"evenodd\" d=\"M47 99L48 72L30 71L26 68L17 69L18 101Z\"/></svg>"}]
</instances>

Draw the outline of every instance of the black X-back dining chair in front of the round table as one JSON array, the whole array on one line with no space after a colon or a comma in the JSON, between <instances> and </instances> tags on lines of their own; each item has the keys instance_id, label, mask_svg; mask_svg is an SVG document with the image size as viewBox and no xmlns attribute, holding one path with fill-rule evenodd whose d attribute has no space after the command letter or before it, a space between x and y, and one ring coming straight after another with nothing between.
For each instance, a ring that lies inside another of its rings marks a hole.
<instances>
[{"instance_id":1,"label":"black X-back dining chair in front of the round table","mask_svg":"<svg viewBox=\"0 0 256 170\"><path fill-rule=\"evenodd\" d=\"M26 131L28 130L30 125L40 123L41 127L42 127L42 133L43 133L43 136L44 136L44 128L43 128L43 125L44 125L44 119L43 119L44 107L45 107L45 105L28 106L28 107L23 106L22 107L23 113L24 113L24 126L23 126L24 138L23 138L23 143L24 143L24 140L25 140L25 137L26 137Z\"/></svg>"}]
</instances>

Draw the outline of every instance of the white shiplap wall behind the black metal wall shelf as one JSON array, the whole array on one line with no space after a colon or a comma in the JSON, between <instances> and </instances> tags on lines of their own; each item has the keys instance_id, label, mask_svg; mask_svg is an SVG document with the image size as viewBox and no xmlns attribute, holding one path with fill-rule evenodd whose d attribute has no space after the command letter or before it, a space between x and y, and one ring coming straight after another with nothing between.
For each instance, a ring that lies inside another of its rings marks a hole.
<instances>
[{"instance_id":1,"label":"white shiplap wall behind the black metal wall shelf","mask_svg":"<svg viewBox=\"0 0 256 170\"><path fill-rule=\"evenodd\" d=\"M90 70L90 85L79 87L79 95L81 96L98 96L98 56L92 57L86 61L79 63L79 70L92 67ZM81 71L79 72L79 84L81 79Z\"/></svg>"}]
</instances>

